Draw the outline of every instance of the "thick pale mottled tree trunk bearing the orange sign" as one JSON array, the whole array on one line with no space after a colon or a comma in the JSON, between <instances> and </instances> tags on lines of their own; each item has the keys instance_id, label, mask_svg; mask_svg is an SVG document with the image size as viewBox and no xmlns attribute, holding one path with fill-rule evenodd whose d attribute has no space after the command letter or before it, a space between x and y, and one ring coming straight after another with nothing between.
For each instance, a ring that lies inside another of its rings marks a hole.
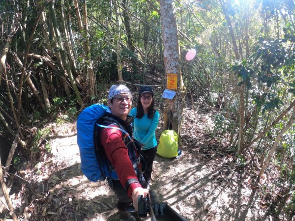
<instances>
[{"instance_id":1,"label":"thick pale mottled tree trunk bearing the orange sign","mask_svg":"<svg viewBox=\"0 0 295 221\"><path fill-rule=\"evenodd\" d=\"M180 136L180 126L184 107L185 87L182 82L180 66L180 48L174 1L160 0L161 23L164 44L164 64L166 74L177 74L177 94L172 100L166 100L163 129L174 130ZM179 137L180 141L180 137Z\"/></svg>"}]
</instances>

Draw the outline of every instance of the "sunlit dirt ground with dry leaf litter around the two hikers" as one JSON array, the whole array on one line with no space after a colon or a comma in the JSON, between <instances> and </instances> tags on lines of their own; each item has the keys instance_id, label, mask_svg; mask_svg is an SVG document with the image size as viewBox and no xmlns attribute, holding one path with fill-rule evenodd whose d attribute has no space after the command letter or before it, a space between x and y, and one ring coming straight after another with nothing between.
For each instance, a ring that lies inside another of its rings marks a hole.
<instances>
[{"instance_id":1,"label":"sunlit dirt ground with dry leaf litter around the two hikers","mask_svg":"<svg viewBox=\"0 0 295 221\"><path fill-rule=\"evenodd\" d=\"M213 111L190 106L183 113L182 155L156 156L151 189L190 221L268 220L266 202L258 193L262 184L252 184L252 174L241 169L227 138L210 137ZM46 127L50 138L40 140L40 148L50 143L52 154L28 165L14 181L20 191L10 197L19 219L119 221L117 199L107 183L90 182L80 170L76 122ZM161 131L162 119L157 138Z\"/></svg>"}]
</instances>

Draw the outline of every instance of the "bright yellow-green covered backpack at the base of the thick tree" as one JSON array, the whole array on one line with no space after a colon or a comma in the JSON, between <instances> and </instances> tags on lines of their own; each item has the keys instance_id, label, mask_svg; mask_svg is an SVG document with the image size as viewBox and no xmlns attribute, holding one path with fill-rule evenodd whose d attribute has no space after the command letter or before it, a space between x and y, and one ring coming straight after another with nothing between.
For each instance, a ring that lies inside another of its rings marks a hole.
<instances>
[{"instance_id":1,"label":"bright yellow-green covered backpack at the base of the thick tree","mask_svg":"<svg viewBox=\"0 0 295 221\"><path fill-rule=\"evenodd\" d=\"M178 136L173 130L163 131L160 137L157 154L164 158L177 157Z\"/></svg>"}]
</instances>

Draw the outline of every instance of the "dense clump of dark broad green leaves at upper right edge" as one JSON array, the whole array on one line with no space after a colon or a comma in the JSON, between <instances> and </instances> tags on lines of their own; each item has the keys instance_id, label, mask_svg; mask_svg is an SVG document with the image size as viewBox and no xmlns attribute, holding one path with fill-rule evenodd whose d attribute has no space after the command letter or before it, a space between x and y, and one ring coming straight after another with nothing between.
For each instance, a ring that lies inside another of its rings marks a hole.
<instances>
[{"instance_id":1,"label":"dense clump of dark broad green leaves at upper right edge","mask_svg":"<svg viewBox=\"0 0 295 221\"><path fill-rule=\"evenodd\" d=\"M279 109L280 105L284 105L281 99L282 88L287 87L287 91L293 95L295 92L295 83L285 83L287 79L295 77L294 71L292 71L295 65L295 56L284 43L286 43L286 39L266 41L261 37L250 59L237 61L230 68L242 80L238 85L245 83L247 89L254 89L252 92L253 102L262 108L262 113ZM251 82L254 82L255 79L257 86L253 88ZM263 85L268 88L267 92L259 89Z\"/></svg>"}]
</instances>

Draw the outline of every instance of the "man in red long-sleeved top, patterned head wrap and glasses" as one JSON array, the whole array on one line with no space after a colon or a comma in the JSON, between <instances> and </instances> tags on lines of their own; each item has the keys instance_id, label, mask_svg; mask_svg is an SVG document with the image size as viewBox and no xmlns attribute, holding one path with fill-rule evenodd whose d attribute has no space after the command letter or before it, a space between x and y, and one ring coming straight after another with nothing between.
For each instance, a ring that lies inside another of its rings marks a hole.
<instances>
[{"instance_id":1,"label":"man in red long-sleeved top, patterned head wrap and glasses","mask_svg":"<svg viewBox=\"0 0 295 221\"><path fill-rule=\"evenodd\" d=\"M132 135L131 126L125 121L132 106L132 94L129 88L123 84L112 85L109 90L108 106L110 112L106 112L101 124L123 129ZM138 196L145 197L148 193L148 190L141 185L144 178L140 171L141 165L137 161L138 152L134 151L130 140L124 141L125 133L120 130L115 128L100 130L101 145L118 175L118 180L108 178L109 186L118 197L117 208L119 211L125 211L132 203L137 210Z\"/></svg>"}]
</instances>

